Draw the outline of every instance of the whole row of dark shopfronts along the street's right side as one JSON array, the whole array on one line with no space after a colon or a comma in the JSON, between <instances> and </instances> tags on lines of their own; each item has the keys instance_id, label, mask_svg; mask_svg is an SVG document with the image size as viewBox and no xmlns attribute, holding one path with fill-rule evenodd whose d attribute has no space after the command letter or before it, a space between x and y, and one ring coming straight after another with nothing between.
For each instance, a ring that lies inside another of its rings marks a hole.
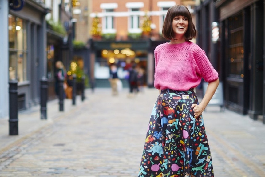
<instances>
[{"instance_id":1,"label":"whole row of dark shopfronts along the street's right side","mask_svg":"<svg viewBox=\"0 0 265 177\"><path fill-rule=\"evenodd\" d=\"M225 107L254 120L263 119L263 123L264 3L205 0L196 7L197 43L219 72ZM212 22L219 25L217 42L212 41Z\"/></svg>"}]
</instances>

